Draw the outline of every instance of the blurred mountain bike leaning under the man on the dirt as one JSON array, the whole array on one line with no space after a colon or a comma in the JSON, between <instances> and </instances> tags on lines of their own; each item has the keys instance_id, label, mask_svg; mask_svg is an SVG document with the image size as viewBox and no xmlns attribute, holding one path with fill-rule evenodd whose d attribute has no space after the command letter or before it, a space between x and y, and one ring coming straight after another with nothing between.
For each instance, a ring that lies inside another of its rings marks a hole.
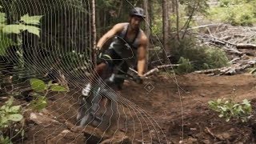
<instances>
[{"instance_id":1,"label":"blurred mountain bike leaning under the man on the dirt","mask_svg":"<svg viewBox=\"0 0 256 144\"><path fill-rule=\"evenodd\" d=\"M112 73L104 81L102 81L102 78L97 79L98 85L93 86L90 96L82 98L80 101L77 115L78 126L91 125L101 130L107 130L113 126L118 110L118 98L117 94L114 94L115 91L110 88L114 87L116 78L130 79L134 82L142 83L141 79L135 78L132 74L122 73ZM103 97L108 101L106 106L99 105ZM102 113L103 110L104 112Z\"/></svg>"}]
</instances>

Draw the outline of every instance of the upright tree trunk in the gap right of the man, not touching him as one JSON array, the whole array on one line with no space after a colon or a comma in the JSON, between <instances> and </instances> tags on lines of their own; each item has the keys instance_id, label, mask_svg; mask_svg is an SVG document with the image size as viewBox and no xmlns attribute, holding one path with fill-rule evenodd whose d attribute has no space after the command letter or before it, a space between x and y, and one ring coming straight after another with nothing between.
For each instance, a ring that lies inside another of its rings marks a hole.
<instances>
[{"instance_id":1,"label":"upright tree trunk in the gap right of the man, not touching him","mask_svg":"<svg viewBox=\"0 0 256 144\"><path fill-rule=\"evenodd\" d=\"M162 42L163 42L163 53L162 58L164 62L168 62L166 53L168 52L168 14L167 14L167 1L162 1Z\"/></svg>"}]
</instances>

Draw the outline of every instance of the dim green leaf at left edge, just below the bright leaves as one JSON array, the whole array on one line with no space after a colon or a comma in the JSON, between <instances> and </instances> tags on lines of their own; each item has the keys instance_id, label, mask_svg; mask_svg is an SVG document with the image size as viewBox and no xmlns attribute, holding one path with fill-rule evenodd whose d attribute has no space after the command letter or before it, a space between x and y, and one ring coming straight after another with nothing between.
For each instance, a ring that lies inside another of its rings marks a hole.
<instances>
[{"instance_id":1,"label":"dim green leaf at left edge, just below the bright leaves","mask_svg":"<svg viewBox=\"0 0 256 144\"><path fill-rule=\"evenodd\" d=\"M6 34L0 33L0 55L6 55L6 49L13 45L16 45L16 43L10 38L7 38Z\"/></svg>"}]
</instances>

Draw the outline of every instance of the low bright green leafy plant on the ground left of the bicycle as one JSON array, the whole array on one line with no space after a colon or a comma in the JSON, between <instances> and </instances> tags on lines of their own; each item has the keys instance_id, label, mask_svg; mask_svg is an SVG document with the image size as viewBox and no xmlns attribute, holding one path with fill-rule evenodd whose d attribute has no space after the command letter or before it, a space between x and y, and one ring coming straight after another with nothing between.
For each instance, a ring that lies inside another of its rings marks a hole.
<instances>
[{"instance_id":1,"label":"low bright green leafy plant on the ground left of the bicycle","mask_svg":"<svg viewBox=\"0 0 256 144\"><path fill-rule=\"evenodd\" d=\"M32 102L30 102L30 107L33 110L39 110L39 111L46 108L47 106L46 94L48 94L50 90L58 91L58 92L68 91L64 86L54 85L51 81L48 82L48 84L46 84L42 80L36 79L36 78L30 79L30 86L32 90L35 91L35 93L33 94L35 99ZM42 94L44 96L42 96Z\"/></svg>"}]
</instances>

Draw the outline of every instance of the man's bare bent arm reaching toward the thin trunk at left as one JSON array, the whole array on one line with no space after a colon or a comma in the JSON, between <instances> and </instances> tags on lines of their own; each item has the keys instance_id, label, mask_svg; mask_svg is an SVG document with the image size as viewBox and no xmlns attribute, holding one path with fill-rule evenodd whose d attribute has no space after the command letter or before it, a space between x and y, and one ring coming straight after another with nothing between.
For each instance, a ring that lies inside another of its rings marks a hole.
<instances>
[{"instance_id":1,"label":"man's bare bent arm reaching toward the thin trunk at left","mask_svg":"<svg viewBox=\"0 0 256 144\"><path fill-rule=\"evenodd\" d=\"M108 32L106 32L106 34L104 34L102 36L102 38L100 38L98 40L98 44L97 47L102 48L102 46L104 45L104 43L109 39L114 37L114 34L117 34L118 32L122 31L123 29L123 24L122 23L118 23L115 26L113 26L113 28L111 30L109 30Z\"/></svg>"}]
</instances>

